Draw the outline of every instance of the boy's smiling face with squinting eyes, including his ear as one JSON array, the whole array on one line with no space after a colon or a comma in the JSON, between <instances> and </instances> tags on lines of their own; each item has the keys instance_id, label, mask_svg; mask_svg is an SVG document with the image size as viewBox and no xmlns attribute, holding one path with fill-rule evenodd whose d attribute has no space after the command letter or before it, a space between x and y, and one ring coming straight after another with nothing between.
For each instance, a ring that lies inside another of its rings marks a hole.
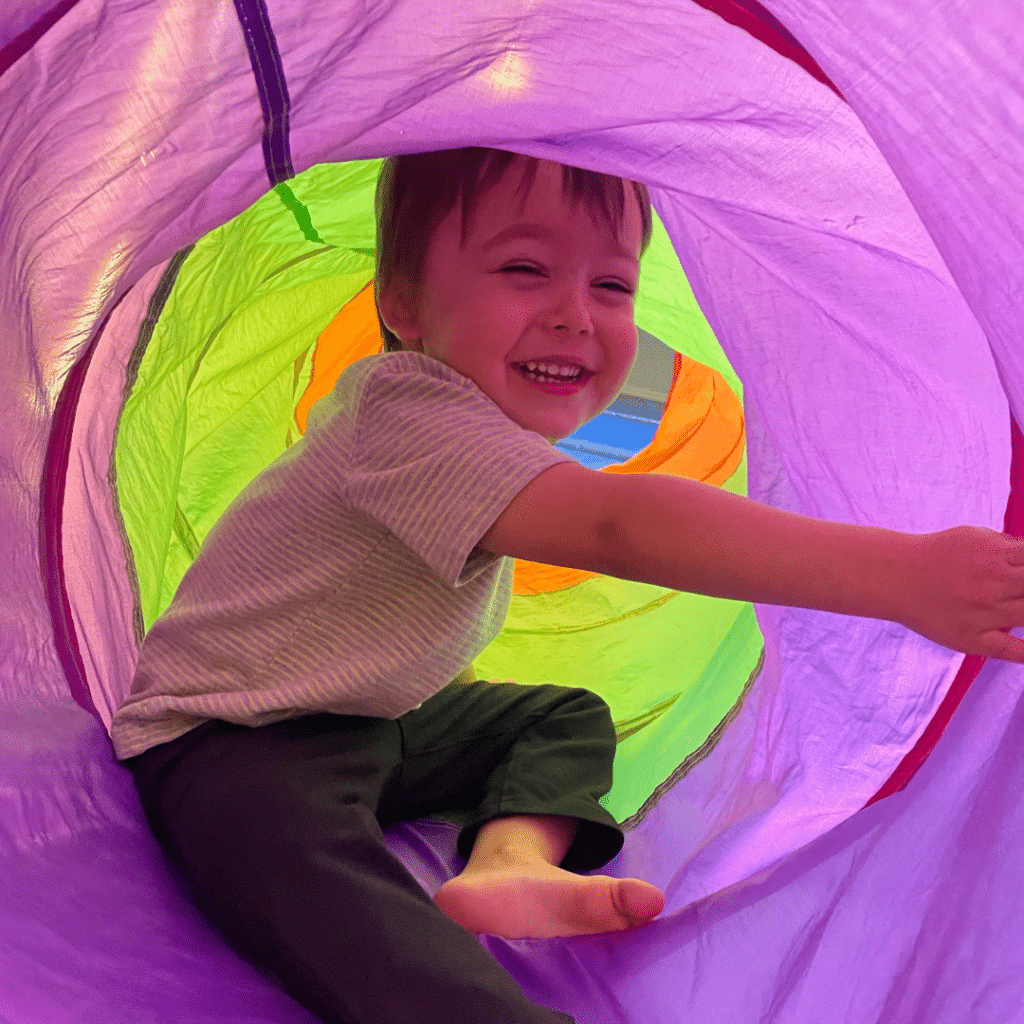
<instances>
[{"instance_id":1,"label":"boy's smiling face with squinting eyes, including his ear","mask_svg":"<svg viewBox=\"0 0 1024 1024\"><path fill-rule=\"evenodd\" d=\"M627 186L620 251L603 221L563 198L560 164L541 161L520 214L522 168L521 159L513 161L481 197L465 249L460 204L440 222L418 309L387 294L379 301L403 349L447 364L509 419L555 441L611 404L636 358L640 207ZM525 224L543 237L496 238ZM527 361L583 372L548 383L526 376Z\"/></svg>"}]
</instances>

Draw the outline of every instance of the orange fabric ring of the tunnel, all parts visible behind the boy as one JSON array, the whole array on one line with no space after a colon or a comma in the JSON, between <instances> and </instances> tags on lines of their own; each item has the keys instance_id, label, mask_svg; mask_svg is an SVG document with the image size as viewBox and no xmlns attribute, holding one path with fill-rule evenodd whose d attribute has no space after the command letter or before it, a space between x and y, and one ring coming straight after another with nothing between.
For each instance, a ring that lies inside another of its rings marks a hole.
<instances>
[{"instance_id":1,"label":"orange fabric ring of the tunnel, all parts visible behind the boy","mask_svg":"<svg viewBox=\"0 0 1024 1024\"><path fill-rule=\"evenodd\" d=\"M313 402L323 398L356 359L383 350L374 285L345 304L316 341L309 385L295 410L299 429ZM672 387L650 444L602 473L668 473L721 486L743 457L745 432L739 397L717 370L676 353ZM567 590L596 572L515 560L514 594Z\"/></svg>"}]
</instances>

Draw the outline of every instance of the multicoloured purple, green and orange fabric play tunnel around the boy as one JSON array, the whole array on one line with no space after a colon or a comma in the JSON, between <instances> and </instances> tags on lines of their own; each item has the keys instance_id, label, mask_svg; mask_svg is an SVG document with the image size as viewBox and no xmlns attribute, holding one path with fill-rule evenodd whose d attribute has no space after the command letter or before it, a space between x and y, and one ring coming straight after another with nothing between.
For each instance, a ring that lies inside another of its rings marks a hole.
<instances>
[{"instance_id":1,"label":"multicoloured purple, green and orange fabric play tunnel around the boy","mask_svg":"<svg viewBox=\"0 0 1024 1024\"><path fill-rule=\"evenodd\" d=\"M386 156L486 145L648 186L641 359L559 443L581 462L1024 532L1014 17L5 8L0 1021L312 1020L195 909L106 729L217 517L381 350ZM668 900L636 932L482 936L530 998L586 1024L1024 1020L1021 667L523 561L475 667L607 700L627 838L601 870ZM428 892L458 820L387 830Z\"/></svg>"}]
</instances>

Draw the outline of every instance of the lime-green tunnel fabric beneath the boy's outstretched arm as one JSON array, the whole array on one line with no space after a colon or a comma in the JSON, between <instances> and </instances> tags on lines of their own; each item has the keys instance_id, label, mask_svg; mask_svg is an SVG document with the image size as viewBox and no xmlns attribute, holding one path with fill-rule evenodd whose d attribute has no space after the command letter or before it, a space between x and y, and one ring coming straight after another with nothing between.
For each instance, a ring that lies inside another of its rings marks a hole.
<instances>
[{"instance_id":1,"label":"lime-green tunnel fabric beneath the boy's outstretched arm","mask_svg":"<svg viewBox=\"0 0 1024 1024\"><path fill-rule=\"evenodd\" d=\"M745 469L744 458L725 489L742 494ZM504 630L473 664L480 679L604 697L620 741L602 803L623 821L729 713L762 647L751 604L600 577L513 596Z\"/></svg>"}]
</instances>

